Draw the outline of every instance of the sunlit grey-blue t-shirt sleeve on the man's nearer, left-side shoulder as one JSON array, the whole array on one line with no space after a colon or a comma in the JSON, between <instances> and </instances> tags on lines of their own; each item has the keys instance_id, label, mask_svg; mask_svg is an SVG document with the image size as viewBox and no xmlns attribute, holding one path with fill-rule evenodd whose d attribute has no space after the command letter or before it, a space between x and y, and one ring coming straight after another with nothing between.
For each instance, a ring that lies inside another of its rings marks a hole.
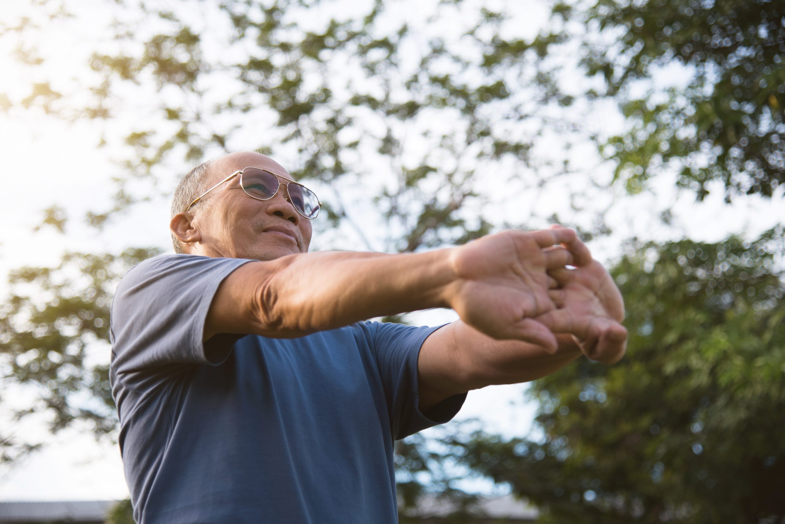
<instances>
[{"instance_id":1,"label":"sunlit grey-blue t-shirt sleeve on the man's nearer, left-side shoulder","mask_svg":"<svg viewBox=\"0 0 785 524\"><path fill-rule=\"evenodd\" d=\"M242 335L204 343L204 323L224 278L250 262L236 258L164 255L122 278L111 306L112 371L126 385L164 366L217 365Z\"/></svg>"}]
</instances>

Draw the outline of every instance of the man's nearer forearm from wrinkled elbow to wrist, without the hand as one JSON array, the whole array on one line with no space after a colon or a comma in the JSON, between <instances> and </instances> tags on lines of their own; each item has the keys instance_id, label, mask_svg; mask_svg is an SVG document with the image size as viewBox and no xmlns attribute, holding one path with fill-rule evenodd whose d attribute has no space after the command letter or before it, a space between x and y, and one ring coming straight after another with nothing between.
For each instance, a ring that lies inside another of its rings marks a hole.
<instances>
[{"instance_id":1,"label":"man's nearer forearm from wrinkled elbow to wrist, without the hand","mask_svg":"<svg viewBox=\"0 0 785 524\"><path fill-rule=\"evenodd\" d=\"M322 252L283 257L259 287L265 330L297 336L366 318L449 307L450 249L429 253Z\"/></svg>"}]
</instances>

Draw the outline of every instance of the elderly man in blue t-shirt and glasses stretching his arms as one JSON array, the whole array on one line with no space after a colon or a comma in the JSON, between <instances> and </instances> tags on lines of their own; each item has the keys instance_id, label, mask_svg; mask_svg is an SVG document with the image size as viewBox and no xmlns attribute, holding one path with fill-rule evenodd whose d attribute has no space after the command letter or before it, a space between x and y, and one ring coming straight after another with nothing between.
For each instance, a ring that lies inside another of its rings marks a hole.
<instances>
[{"instance_id":1,"label":"elderly man in blue t-shirt and glasses stretching his arms","mask_svg":"<svg viewBox=\"0 0 785 524\"><path fill-rule=\"evenodd\" d=\"M139 524L397 522L396 439L469 390L623 355L622 298L575 231L308 253L319 205L264 155L207 162L173 198L178 254L120 282L111 382ZM460 319L365 322L429 307Z\"/></svg>"}]
</instances>

